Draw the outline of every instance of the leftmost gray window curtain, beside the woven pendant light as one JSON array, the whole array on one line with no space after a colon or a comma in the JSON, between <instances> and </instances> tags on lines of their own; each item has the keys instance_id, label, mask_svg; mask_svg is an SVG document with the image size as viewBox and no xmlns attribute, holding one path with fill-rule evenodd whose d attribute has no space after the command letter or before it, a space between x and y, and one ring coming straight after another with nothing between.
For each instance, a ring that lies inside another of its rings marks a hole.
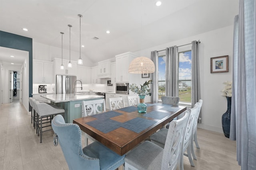
<instances>
[{"instance_id":1,"label":"leftmost gray window curtain, beside the woven pendant light","mask_svg":"<svg viewBox=\"0 0 256 170\"><path fill-rule=\"evenodd\" d=\"M152 73L152 95L151 101L153 103L158 102L158 53L157 51L151 51L151 60L154 62L156 70Z\"/></svg>"}]
</instances>

